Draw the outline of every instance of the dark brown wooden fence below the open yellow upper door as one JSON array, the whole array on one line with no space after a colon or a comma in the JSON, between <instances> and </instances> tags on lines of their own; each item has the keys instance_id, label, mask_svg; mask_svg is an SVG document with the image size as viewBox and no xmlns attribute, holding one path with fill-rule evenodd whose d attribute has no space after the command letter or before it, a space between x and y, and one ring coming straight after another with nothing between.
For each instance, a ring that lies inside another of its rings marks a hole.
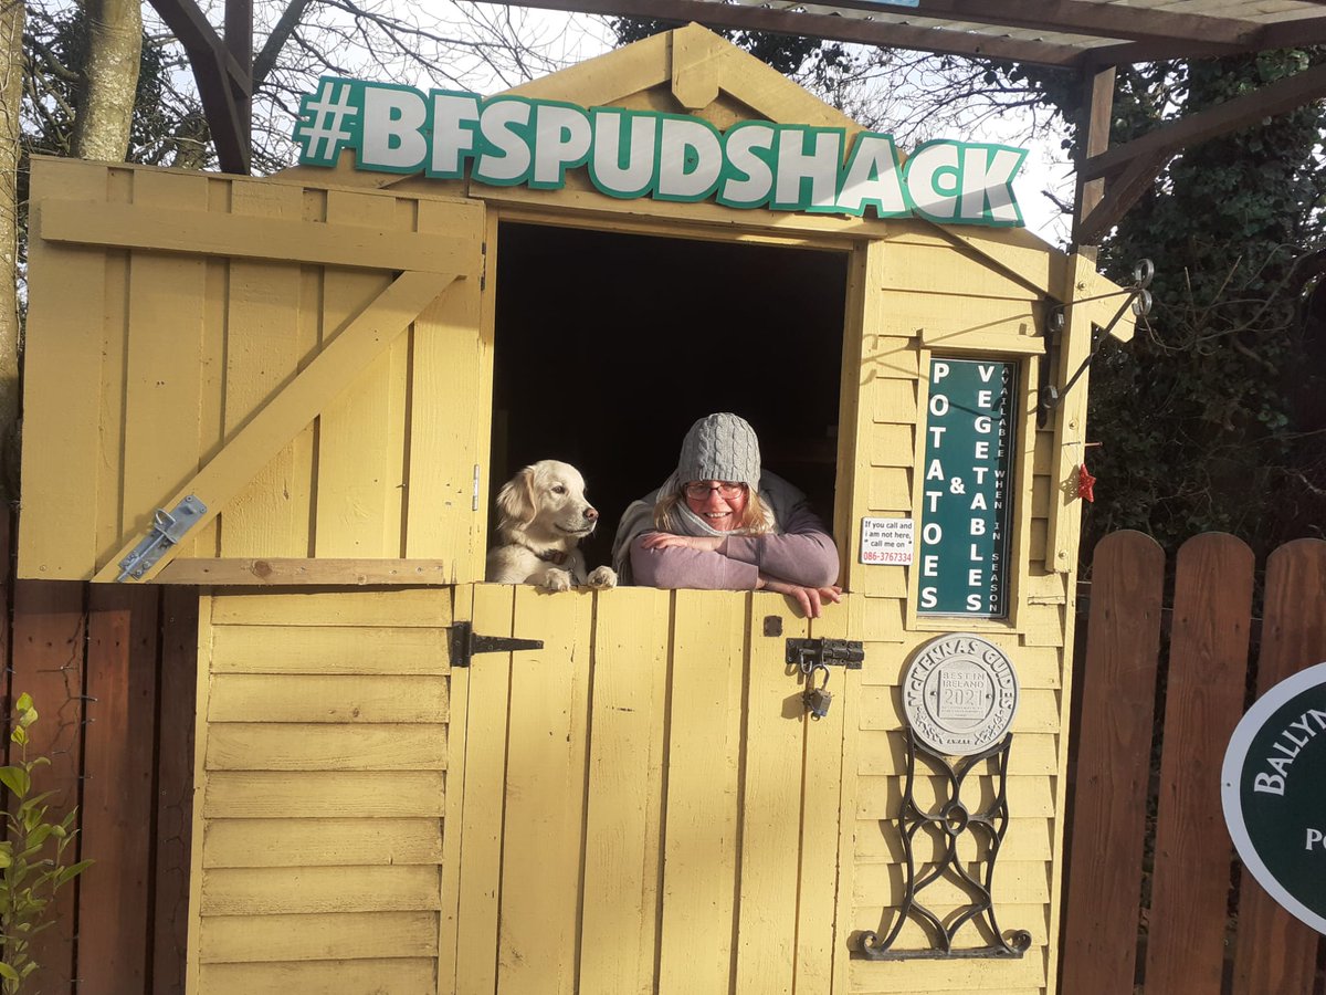
<instances>
[{"instance_id":1,"label":"dark brown wooden fence below the open yellow upper door","mask_svg":"<svg viewBox=\"0 0 1326 995\"><path fill-rule=\"evenodd\" d=\"M5 564L9 535L0 528ZM37 787L57 792L56 819L80 807L78 846L97 861L33 943L32 991L183 992L198 593L12 576L7 690L32 694L29 754L52 759Z\"/></svg>"}]
</instances>

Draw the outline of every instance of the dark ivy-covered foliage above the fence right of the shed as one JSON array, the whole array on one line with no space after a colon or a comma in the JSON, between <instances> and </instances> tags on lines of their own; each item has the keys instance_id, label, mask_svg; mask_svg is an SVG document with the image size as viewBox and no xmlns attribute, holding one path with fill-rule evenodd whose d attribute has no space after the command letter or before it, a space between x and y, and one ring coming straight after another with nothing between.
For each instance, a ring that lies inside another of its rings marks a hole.
<instances>
[{"instance_id":1,"label":"dark ivy-covered foliage above the fence right of the shed","mask_svg":"<svg viewBox=\"0 0 1326 995\"><path fill-rule=\"evenodd\" d=\"M1249 93L1321 50L1120 69L1111 146ZM1074 119L1078 94L1045 77ZM1191 146L1101 247L1120 284L1155 263L1154 309L1093 366L1083 551L1136 528L1168 548L1227 531L1258 555L1326 528L1326 111L1307 105ZM1313 306L1314 300L1318 301ZM1319 313L1318 313L1319 312Z\"/></svg>"}]
</instances>

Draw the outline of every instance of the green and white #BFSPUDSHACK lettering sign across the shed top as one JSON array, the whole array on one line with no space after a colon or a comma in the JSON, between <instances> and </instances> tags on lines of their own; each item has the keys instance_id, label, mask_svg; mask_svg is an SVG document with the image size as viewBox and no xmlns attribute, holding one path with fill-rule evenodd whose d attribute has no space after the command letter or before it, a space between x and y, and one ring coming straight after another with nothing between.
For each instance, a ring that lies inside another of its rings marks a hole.
<instances>
[{"instance_id":1,"label":"green and white #BFSPUDSHACK lettering sign across the shed top","mask_svg":"<svg viewBox=\"0 0 1326 995\"><path fill-rule=\"evenodd\" d=\"M1026 150L926 142L906 162L874 131L741 121L720 131L690 114L430 90L324 77L300 105L300 165L557 190L585 168L622 198L947 224L1022 224L1013 178Z\"/></svg>"}]
</instances>

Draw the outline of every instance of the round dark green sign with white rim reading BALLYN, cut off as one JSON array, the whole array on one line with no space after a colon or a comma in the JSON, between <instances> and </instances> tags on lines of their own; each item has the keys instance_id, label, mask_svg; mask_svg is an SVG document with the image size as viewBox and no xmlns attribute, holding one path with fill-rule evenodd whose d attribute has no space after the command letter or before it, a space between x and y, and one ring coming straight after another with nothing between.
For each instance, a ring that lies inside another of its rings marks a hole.
<instances>
[{"instance_id":1,"label":"round dark green sign with white rim reading BALLYN, cut off","mask_svg":"<svg viewBox=\"0 0 1326 995\"><path fill-rule=\"evenodd\" d=\"M1235 728L1225 824L1257 884L1326 934L1326 663L1281 681Z\"/></svg>"}]
</instances>

